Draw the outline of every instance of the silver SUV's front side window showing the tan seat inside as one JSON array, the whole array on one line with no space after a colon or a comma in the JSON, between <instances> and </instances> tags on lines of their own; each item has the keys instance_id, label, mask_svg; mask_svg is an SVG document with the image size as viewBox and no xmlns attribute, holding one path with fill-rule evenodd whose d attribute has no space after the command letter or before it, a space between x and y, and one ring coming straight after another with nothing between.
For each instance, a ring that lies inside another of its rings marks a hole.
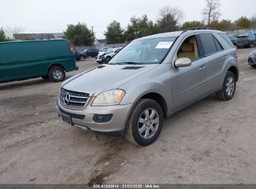
<instances>
[{"instance_id":1,"label":"silver SUV's front side window showing the tan seat inside","mask_svg":"<svg viewBox=\"0 0 256 189\"><path fill-rule=\"evenodd\" d=\"M200 57L196 35L191 35L184 40L177 52L178 58L189 58L192 61Z\"/></svg>"}]
</instances>

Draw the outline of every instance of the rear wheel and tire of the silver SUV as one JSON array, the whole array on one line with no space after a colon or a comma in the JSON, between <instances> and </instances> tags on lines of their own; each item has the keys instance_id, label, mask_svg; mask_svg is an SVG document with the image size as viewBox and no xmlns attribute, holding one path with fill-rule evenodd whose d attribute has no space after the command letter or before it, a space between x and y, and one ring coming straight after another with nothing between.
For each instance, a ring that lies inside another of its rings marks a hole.
<instances>
[{"instance_id":1,"label":"rear wheel and tire of the silver SUV","mask_svg":"<svg viewBox=\"0 0 256 189\"><path fill-rule=\"evenodd\" d=\"M227 86L229 85L229 86ZM232 71L227 71L225 75L222 89L217 93L217 98L223 101L228 101L233 98L236 88L236 79Z\"/></svg>"}]
</instances>

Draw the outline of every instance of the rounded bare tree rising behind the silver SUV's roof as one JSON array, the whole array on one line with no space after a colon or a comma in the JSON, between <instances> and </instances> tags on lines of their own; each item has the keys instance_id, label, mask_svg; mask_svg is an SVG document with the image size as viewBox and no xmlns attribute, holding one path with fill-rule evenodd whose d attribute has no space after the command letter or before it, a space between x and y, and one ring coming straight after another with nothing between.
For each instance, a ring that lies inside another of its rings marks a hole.
<instances>
[{"instance_id":1,"label":"rounded bare tree rising behind the silver SUV's roof","mask_svg":"<svg viewBox=\"0 0 256 189\"><path fill-rule=\"evenodd\" d=\"M163 32L178 30L179 24L181 24L184 16L184 12L178 7L165 6L159 10L158 27Z\"/></svg>"}]
</instances>

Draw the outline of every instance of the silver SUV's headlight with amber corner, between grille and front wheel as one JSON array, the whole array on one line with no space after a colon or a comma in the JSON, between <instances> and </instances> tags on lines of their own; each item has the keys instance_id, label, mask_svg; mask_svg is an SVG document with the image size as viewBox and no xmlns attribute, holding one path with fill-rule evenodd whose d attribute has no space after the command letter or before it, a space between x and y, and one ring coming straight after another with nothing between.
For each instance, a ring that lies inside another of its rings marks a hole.
<instances>
[{"instance_id":1,"label":"silver SUV's headlight with amber corner, between grille and front wheel","mask_svg":"<svg viewBox=\"0 0 256 189\"><path fill-rule=\"evenodd\" d=\"M123 90L110 90L98 94L91 106L111 106L120 104L121 99L125 96Z\"/></svg>"}]
</instances>

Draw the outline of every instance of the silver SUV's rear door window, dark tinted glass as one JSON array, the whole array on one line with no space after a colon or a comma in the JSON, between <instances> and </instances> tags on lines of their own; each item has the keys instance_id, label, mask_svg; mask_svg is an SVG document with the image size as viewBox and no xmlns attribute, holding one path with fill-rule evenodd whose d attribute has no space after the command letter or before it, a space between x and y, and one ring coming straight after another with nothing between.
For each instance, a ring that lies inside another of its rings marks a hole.
<instances>
[{"instance_id":1,"label":"silver SUV's rear door window, dark tinted glass","mask_svg":"<svg viewBox=\"0 0 256 189\"><path fill-rule=\"evenodd\" d=\"M216 42L212 34L199 34L202 48L204 49L204 55L211 55L217 52Z\"/></svg>"}]
</instances>

